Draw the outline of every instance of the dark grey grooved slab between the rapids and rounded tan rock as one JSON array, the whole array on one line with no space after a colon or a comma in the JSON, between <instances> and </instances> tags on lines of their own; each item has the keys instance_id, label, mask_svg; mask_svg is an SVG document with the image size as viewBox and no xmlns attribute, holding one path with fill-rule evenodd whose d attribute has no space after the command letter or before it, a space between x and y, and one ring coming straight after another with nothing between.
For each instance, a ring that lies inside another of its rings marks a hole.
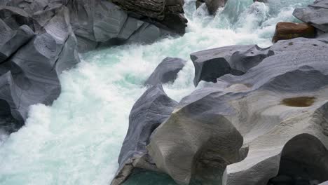
<instances>
[{"instance_id":1,"label":"dark grey grooved slab between the rapids and rounded tan rock","mask_svg":"<svg viewBox=\"0 0 328 185\"><path fill-rule=\"evenodd\" d=\"M177 106L175 100L164 93L161 85L154 85L135 102L129 117L129 129L124 139L118 163L120 164L112 185L121 184L134 167L156 170L146 151L149 137Z\"/></svg>"}]
</instances>

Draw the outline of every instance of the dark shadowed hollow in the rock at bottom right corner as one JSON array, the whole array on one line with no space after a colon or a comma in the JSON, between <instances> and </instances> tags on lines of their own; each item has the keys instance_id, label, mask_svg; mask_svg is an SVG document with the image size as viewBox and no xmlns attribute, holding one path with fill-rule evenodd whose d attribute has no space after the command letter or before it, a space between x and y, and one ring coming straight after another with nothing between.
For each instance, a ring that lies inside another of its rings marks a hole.
<instances>
[{"instance_id":1,"label":"dark shadowed hollow in the rock at bottom right corner","mask_svg":"<svg viewBox=\"0 0 328 185\"><path fill-rule=\"evenodd\" d=\"M316 137L302 134L287 142L278 176L270 179L268 185L315 185L327 181L327 174L327 149Z\"/></svg>"}]
</instances>

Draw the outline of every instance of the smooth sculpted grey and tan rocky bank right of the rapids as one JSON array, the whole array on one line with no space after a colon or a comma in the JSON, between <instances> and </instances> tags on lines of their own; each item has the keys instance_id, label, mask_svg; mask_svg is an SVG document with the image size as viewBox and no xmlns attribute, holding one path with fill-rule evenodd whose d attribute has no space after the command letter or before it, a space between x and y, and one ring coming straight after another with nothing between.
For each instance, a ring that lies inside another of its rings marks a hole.
<instances>
[{"instance_id":1,"label":"smooth sculpted grey and tan rocky bank right of the rapids","mask_svg":"<svg viewBox=\"0 0 328 185\"><path fill-rule=\"evenodd\" d=\"M134 168L169 174L177 184L328 181L327 4L315 1L294 11L313 30L309 36L287 23L295 39L280 34L269 48L226 46L192 53L194 84L208 83L176 106L160 86L149 88L130 118L138 110L156 116L150 116L152 123L148 116L130 120L129 130L135 132L128 132L125 143L142 139L122 149L121 156L134 154L120 158L112 184L121 184ZM147 97L150 92L165 98L154 102L154 96ZM138 109L146 98L153 104Z\"/></svg>"}]
</instances>

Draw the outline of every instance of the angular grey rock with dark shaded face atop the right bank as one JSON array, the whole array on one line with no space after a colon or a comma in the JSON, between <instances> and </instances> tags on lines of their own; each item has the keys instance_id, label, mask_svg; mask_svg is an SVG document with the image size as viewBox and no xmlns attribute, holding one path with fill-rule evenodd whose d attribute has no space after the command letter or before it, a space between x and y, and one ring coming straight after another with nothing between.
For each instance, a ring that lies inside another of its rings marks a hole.
<instances>
[{"instance_id":1,"label":"angular grey rock with dark shaded face atop the right bank","mask_svg":"<svg viewBox=\"0 0 328 185\"><path fill-rule=\"evenodd\" d=\"M268 55L273 55L266 48L259 46L226 46L203 50L191 54L195 66L195 86L200 81L217 82L225 74L241 75L256 66Z\"/></svg>"}]
</instances>

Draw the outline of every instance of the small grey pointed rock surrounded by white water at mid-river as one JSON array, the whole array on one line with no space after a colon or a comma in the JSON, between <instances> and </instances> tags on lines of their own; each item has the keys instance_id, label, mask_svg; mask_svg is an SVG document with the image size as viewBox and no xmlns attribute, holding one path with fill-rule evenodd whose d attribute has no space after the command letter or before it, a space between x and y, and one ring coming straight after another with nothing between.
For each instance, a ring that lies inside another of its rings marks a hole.
<instances>
[{"instance_id":1,"label":"small grey pointed rock surrounded by white water at mid-river","mask_svg":"<svg viewBox=\"0 0 328 185\"><path fill-rule=\"evenodd\" d=\"M156 85L161 83L174 82L177 78L177 74L186 64L186 60L180 58L166 57L155 71L149 76L144 85Z\"/></svg>"}]
</instances>

